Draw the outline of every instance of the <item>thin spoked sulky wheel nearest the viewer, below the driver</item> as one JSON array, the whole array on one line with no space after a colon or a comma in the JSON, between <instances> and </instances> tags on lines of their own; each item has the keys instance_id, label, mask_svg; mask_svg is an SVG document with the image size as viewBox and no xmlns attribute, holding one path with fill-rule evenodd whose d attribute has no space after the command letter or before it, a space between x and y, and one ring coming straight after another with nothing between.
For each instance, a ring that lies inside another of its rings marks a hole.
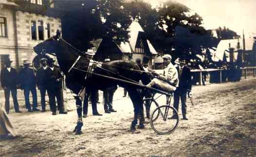
<instances>
[{"instance_id":1,"label":"thin spoked sulky wheel nearest the viewer, below the driver","mask_svg":"<svg viewBox=\"0 0 256 157\"><path fill-rule=\"evenodd\" d=\"M152 129L161 135L170 134L179 124L179 116L171 118L173 114L178 115L175 108L163 105L155 109L150 118Z\"/></svg>"}]
</instances>

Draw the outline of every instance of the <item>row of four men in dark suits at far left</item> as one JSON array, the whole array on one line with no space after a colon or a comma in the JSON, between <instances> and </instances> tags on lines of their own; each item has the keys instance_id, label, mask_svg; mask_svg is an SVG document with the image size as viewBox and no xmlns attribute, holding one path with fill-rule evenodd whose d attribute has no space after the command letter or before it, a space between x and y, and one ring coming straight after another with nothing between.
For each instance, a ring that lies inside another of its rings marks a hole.
<instances>
[{"instance_id":1,"label":"row of four men in dark suits at far left","mask_svg":"<svg viewBox=\"0 0 256 157\"><path fill-rule=\"evenodd\" d=\"M17 70L11 67L12 61L8 59L5 61L5 67L1 70L0 81L4 90L5 96L5 111L8 114L10 111L10 93L13 97L14 109L20 113L19 104L17 99L17 89L24 92L25 107L28 112L39 111L37 109L37 87L41 95L41 112L45 112L45 94L46 91L49 96L50 109L53 115L59 110L60 114L67 114L64 111L63 105L63 92L62 92L62 79L63 76L58 68L54 66L55 60L52 58L40 59L41 67L35 71L30 68L28 60L23 61L23 67ZM30 103L30 93L32 94L32 104ZM57 107L55 98L57 99Z\"/></svg>"}]
</instances>

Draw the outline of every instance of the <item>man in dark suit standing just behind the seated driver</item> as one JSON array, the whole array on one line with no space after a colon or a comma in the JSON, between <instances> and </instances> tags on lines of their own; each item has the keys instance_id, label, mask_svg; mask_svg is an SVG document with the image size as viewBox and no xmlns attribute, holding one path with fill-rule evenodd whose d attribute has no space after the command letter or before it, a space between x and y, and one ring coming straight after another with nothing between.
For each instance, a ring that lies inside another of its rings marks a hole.
<instances>
[{"instance_id":1,"label":"man in dark suit standing just behind the seated driver","mask_svg":"<svg viewBox=\"0 0 256 157\"><path fill-rule=\"evenodd\" d=\"M182 58L179 60L179 66L177 66L177 71L179 75L179 87L174 91L174 108L178 111L179 110L179 102L181 98L182 102L182 115L183 120L188 120L186 117L186 100L187 100L187 93L191 92L191 72L188 67L185 66L185 60ZM177 115L173 115L171 118L176 118Z\"/></svg>"}]
</instances>

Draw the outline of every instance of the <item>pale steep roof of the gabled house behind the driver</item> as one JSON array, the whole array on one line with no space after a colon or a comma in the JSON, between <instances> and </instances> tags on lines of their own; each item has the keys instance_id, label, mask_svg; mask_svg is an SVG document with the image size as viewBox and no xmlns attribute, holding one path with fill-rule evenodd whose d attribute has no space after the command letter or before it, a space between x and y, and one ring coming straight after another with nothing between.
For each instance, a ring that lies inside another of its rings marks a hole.
<instances>
[{"instance_id":1,"label":"pale steep roof of the gabled house behind the driver","mask_svg":"<svg viewBox=\"0 0 256 157\"><path fill-rule=\"evenodd\" d=\"M121 43L121 45L117 45L117 47L124 53L132 53L135 51L136 42L138 39L139 32L144 32L141 25L137 21L133 21L130 26L128 27L128 35L130 38L128 39L128 42ZM146 40L147 45L149 47L149 51L151 54L157 54L157 51L152 46L152 44Z\"/></svg>"}]
</instances>

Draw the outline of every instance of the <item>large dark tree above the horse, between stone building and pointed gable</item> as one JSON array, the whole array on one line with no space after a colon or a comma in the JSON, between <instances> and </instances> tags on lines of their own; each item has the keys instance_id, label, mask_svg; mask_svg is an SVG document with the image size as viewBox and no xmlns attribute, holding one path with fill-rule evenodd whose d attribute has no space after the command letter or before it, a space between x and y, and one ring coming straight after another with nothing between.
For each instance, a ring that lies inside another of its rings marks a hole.
<instances>
[{"instance_id":1,"label":"large dark tree above the horse, between stone building and pointed gable","mask_svg":"<svg viewBox=\"0 0 256 157\"><path fill-rule=\"evenodd\" d=\"M53 12L61 12L63 38L78 49L86 51L93 47L91 40L102 38L128 41L131 19L123 0L55 0L55 6Z\"/></svg>"}]
</instances>

